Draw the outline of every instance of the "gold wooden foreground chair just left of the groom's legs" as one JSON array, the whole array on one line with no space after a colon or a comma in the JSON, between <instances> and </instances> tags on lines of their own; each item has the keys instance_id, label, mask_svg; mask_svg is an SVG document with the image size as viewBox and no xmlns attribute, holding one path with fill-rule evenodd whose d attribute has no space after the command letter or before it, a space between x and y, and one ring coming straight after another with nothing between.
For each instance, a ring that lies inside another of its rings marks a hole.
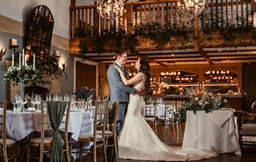
<instances>
[{"instance_id":1,"label":"gold wooden foreground chair just left of the groom's legs","mask_svg":"<svg viewBox=\"0 0 256 162\"><path fill-rule=\"evenodd\" d=\"M79 152L72 152L72 154L79 154L80 161L82 161L83 154L92 153L93 162L97 161L97 149L101 148L104 152L106 160L106 122L109 113L108 101L95 101L93 135L80 134L78 137ZM92 148L83 148L83 143L92 142Z\"/></svg>"}]
</instances>

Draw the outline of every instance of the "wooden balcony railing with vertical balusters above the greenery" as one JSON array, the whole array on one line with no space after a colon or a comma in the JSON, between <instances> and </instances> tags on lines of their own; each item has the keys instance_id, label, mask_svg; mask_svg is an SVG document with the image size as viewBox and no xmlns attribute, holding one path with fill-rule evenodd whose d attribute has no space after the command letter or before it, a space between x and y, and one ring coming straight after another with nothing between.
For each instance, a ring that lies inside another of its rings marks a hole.
<instances>
[{"instance_id":1,"label":"wooden balcony railing with vertical balusters above the greenery","mask_svg":"<svg viewBox=\"0 0 256 162\"><path fill-rule=\"evenodd\" d=\"M154 2L129 2L125 4L125 13L116 19L116 30L133 32L137 25L155 22L162 27L193 28L254 25L253 0L206 0L205 8L199 19L191 19L178 9L176 0L158 0ZM74 37L75 29L95 29L101 32L110 28L110 22L99 16L96 6L79 6L70 8L70 35Z\"/></svg>"}]
</instances>

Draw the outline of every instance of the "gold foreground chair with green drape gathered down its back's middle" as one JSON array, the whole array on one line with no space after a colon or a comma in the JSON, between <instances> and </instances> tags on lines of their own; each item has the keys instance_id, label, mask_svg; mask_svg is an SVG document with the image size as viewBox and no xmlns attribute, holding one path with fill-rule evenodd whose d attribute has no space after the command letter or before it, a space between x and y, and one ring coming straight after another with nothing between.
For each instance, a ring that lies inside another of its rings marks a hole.
<instances>
[{"instance_id":1,"label":"gold foreground chair with green drape gathered down its back's middle","mask_svg":"<svg viewBox=\"0 0 256 162\"><path fill-rule=\"evenodd\" d=\"M43 110L43 103L47 105L46 110ZM70 151L68 147L70 109L71 101L41 101L40 137L29 139L28 162L30 158L39 159L40 162L43 162L43 154L48 152L50 152L50 161L62 161L63 158L66 158L65 161L70 162ZM30 155L32 147L40 149L39 157ZM63 155L64 152L65 157Z\"/></svg>"}]
</instances>

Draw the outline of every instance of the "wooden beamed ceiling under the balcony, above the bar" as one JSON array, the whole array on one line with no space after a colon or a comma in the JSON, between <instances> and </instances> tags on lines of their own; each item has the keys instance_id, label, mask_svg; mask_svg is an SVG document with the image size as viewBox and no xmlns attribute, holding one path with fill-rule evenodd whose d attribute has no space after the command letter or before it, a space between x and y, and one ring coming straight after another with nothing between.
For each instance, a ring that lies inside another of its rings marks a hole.
<instances>
[{"instance_id":1,"label":"wooden beamed ceiling under the balcony, above the bar","mask_svg":"<svg viewBox=\"0 0 256 162\"><path fill-rule=\"evenodd\" d=\"M115 53L87 53L85 59L93 62L112 63ZM175 62L176 65L189 64L213 64L256 62L256 46L222 47L222 48L202 48L195 49L175 49L175 50L149 50L133 51L128 53L127 63L136 62L139 56L147 57L150 65L169 65Z\"/></svg>"}]
</instances>

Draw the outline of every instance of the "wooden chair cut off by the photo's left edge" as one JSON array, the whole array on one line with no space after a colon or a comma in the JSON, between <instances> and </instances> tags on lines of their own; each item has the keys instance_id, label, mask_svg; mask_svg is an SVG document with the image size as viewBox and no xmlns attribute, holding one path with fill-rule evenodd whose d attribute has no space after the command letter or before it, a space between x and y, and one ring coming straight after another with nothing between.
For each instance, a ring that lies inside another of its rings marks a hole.
<instances>
[{"instance_id":1,"label":"wooden chair cut off by the photo's left edge","mask_svg":"<svg viewBox=\"0 0 256 162\"><path fill-rule=\"evenodd\" d=\"M0 108L2 108L0 112L0 154L3 155L4 162L8 162L9 160L16 162L17 141L6 137L6 107L7 101L3 100L3 102L0 103ZM10 151L11 149L12 151Z\"/></svg>"}]
</instances>

